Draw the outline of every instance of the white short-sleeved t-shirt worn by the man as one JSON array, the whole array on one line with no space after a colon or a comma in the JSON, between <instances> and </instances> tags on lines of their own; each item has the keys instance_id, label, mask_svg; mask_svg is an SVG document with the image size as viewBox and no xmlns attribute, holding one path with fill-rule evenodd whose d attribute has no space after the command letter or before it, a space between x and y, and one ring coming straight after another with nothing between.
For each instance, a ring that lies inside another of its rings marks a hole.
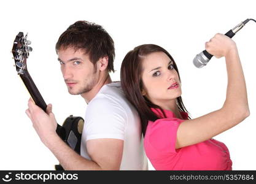
<instances>
[{"instance_id":1,"label":"white short-sleeved t-shirt worn by the man","mask_svg":"<svg viewBox=\"0 0 256 184\"><path fill-rule=\"evenodd\" d=\"M120 82L104 85L89 102L85 113L80 155L91 159L87 153L87 140L103 138L123 140L120 170L147 169L139 115L125 98Z\"/></svg>"}]
</instances>

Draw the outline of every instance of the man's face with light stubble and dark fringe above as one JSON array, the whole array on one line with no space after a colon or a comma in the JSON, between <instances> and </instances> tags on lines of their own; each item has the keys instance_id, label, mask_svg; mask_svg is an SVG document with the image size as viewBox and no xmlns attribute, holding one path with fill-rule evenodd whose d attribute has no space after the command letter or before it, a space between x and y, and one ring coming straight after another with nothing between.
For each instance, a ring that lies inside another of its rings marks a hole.
<instances>
[{"instance_id":1,"label":"man's face with light stubble and dark fringe above","mask_svg":"<svg viewBox=\"0 0 256 184\"><path fill-rule=\"evenodd\" d=\"M83 94L96 85L99 71L83 50L68 47L58 50L61 72L70 94Z\"/></svg>"}]
</instances>

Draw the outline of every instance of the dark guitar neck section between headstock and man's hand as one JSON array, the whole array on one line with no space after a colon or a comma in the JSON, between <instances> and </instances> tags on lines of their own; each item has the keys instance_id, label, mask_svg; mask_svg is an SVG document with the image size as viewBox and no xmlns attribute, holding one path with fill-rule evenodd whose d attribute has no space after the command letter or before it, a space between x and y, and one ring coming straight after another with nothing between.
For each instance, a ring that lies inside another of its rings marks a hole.
<instances>
[{"instance_id":1,"label":"dark guitar neck section between headstock and man's hand","mask_svg":"<svg viewBox=\"0 0 256 184\"><path fill-rule=\"evenodd\" d=\"M20 78L25 84L26 88L28 89L31 98L33 98L33 101L36 103L36 105L41 107L41 109L44 110L44 112L46 112L47 105L44 99L42 98L41 93L34 84L33 79L29 75L29 72L24 71L24 74L20 74Z\"/></svg>"}]
</instances>

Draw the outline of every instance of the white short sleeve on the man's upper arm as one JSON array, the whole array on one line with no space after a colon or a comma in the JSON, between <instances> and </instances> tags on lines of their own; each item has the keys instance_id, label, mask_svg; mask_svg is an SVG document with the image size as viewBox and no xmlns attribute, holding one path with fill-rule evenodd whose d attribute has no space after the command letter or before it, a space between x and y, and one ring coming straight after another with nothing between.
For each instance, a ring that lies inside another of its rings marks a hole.
<instances>
[{"instance_id":1,"label":"white short sleeve on the man's upper arm","mask_svg":"<svg viewBox=\"0 0 256 184\"><path fill-rule=\"evenodd\" d=\"M122 105L101 94L93 99L85 113L83 134L89 139L124 139L126 112Z\"/></svg>"}]
</instances>

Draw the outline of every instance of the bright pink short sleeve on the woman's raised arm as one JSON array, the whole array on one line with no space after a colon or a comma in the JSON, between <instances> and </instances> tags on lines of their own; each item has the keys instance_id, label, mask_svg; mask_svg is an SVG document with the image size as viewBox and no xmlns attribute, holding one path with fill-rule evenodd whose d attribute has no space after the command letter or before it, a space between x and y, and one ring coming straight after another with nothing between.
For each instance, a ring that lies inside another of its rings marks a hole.
<instances>
[{"instance_id":1,"label":"bright pink short sleeve on the woman's raised arm","mask_svg":"<svg viewBox=\"0 0 256 184\"><path fill-rule=\"evenodd\" d=\"M144 140L147 155L155 157L160 153L176 153L177 129L181 122L178 118L149 121Z\"/></svg>"}]
</instances>

